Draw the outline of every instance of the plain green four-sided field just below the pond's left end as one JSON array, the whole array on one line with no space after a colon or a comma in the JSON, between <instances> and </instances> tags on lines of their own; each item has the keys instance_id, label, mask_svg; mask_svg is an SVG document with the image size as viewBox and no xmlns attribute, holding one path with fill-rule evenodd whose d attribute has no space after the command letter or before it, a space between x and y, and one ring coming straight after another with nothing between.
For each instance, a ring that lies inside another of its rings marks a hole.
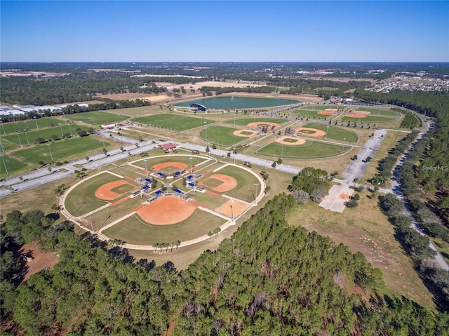
<instances>
[{"instance_id":1,"label":"plain green four-sided field just below the pond's left end","mask_svg":"<svg viewBox=\"0 0 449 336\"><path fill-rule=\"evenodd\" d=\"M145 123L147 125L159 126L172 130L190 130L192 128L206 126L215 121L192 116L182 116L174 113L163 113L138 117L133 119L133 122Z\"/></svg>"}]
</instances>

